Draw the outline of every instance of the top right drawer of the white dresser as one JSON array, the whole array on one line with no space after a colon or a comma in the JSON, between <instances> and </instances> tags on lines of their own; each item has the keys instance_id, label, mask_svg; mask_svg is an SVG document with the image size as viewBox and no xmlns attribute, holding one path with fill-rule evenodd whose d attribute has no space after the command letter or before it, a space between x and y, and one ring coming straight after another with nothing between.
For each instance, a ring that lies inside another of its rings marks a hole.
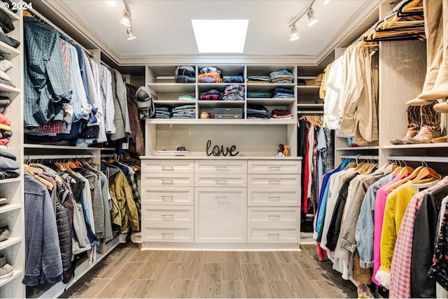
<instances>
[{"instance_id":1,"label":"top right drawer of the white dresser","mask_svg":"<svg viewBox=\"0 0 448 299\"><path fill-rule=\"evenodd\" d=\"M247 165L248 174L300 174L300 160L249 160Z\"/></svg>"}]
</instances>

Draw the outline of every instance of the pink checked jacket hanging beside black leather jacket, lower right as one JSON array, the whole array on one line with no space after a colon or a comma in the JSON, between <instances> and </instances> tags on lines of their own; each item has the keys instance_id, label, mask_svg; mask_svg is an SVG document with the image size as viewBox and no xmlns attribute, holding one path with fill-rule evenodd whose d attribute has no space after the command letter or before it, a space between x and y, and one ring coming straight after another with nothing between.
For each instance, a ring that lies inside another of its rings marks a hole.
<instances>
[{"instance_id":1,"label":"pink checked jacket hanging beside black leather jacket, lower right","mask_svg":"<svg viewBox=\"0 0 448 299\"><path fill-rule=\"evenodd\" d=\"M412 239L414 238L414 223L417 213L423 202L423 197L430 191L446 186L448 176L436 185L423 190L407 204L405 216L403 216L400 231L398 232L397 242L393 251L391 264L391 279L389 298L410 298L411 297L411 258L412 258Z\"/></svg>"}]
</instances>

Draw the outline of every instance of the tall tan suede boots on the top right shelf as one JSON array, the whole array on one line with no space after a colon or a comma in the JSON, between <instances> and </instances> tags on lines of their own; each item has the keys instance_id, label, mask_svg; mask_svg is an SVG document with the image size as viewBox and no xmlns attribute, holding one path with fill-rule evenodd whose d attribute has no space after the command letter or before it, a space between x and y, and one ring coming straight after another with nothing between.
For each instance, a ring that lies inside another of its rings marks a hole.
<instances>
[{"instance_id":1,"label":"tall tan suede boots on the top right shelf","mask_svg":"<svg viewBox=\"0 0 448 299\"><path fill-rule=\"evenodd\" d=\"M409 106L442 103L434 106L437 112L448 112L448 0L423 0L426 34L426 77L423 90Z\"/></svg>"}]
</instances>

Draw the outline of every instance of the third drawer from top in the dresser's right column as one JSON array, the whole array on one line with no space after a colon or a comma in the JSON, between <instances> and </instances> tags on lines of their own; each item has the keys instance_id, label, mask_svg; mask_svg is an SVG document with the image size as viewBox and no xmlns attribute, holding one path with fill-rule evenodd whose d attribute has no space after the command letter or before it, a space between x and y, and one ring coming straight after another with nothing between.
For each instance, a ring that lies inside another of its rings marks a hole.
<instances>
[{"instance_id":1,"label":"third drawer from top in the dresser's right column","mask_svg":"<svg viewBox=\"0 0 448 299\"><path fill-rule=\"evenodd\" d=\"M249 206L300 206L300 186L248 188Z\"/></svg>"}]
</instances>

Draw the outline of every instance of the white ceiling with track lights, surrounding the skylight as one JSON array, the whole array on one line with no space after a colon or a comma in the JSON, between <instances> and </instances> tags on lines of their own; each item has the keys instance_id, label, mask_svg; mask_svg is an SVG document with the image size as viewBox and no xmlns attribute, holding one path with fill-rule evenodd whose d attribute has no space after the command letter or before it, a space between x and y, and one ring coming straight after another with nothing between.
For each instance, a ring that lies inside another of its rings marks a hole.
<instances>
[{"instance_id":1,"label":"white ceiling with track lights, surrounding the skylight","mask_svg":"<svg viewBox=\"0 0 448 299\"><path fill-rule=\"evenodd\" d=\"M371 13L365 9L372 1L332 0L324 6L323 0L316 0L313 6L319 22L307 27L307 16L304 15L296 23L300 34L297 41L289 41L288 25L311 0L127 0L127 3L132 13L132 29L137 36L133 41L127 41L125 27L119 22L124 8L121 1L116 7L107 6L104 0L62 1L83 27L92 30L117 57L123 58L199 55L191 19L239 18L249 20L244 55L318 57L328 54L329 47L344 37L340 36L341 32L359 25L362 14ZM232 42L232 32L222 42Z\"/></svg>"}]
</instances>

